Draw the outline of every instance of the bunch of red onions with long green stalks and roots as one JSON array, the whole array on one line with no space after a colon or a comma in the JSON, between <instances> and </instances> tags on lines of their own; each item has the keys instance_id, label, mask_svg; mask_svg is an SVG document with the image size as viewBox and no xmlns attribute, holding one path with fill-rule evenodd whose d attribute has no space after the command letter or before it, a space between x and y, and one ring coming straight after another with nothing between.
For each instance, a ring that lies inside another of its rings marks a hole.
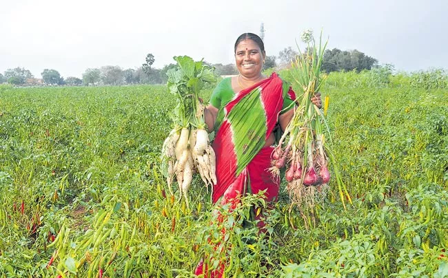
<instances>
[{"instance_id":1,"label":"bunch of red onions with long green stalks and roots","mask_svg":"<svg viewBox=\"0 0 448 278\"><path fill-rule=\"evenodd\" d=\"M292 62L290 69L298 94L295 101L298 107L272 153L271 171L278 174L280 169L286 167L287 191L292 202L313 206L314 198L320 193L325 193L323 189L327 188L330 180L328 165L332 162L340 197L345 207L344 195L350 202L351 200L340 178L329 144L325 142L323 134L325 118L311 101L325 78L320 75L320 65L327 43L322 45L320 36L317 47L311 30L303 32L302 39L307 43L307 52L302 53L299 48L300 54L296 57L296 61Z\"/></svg>"}]
</instances>

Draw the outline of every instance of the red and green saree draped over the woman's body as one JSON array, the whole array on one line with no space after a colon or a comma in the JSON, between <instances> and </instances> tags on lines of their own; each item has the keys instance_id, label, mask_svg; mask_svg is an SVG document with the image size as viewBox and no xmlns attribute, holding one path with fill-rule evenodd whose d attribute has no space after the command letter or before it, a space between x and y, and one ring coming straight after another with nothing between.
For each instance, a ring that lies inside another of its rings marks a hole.
<instances>
[{"instance_id":1,"label":"red and green saree draped over the woman's body","mask_svg":"<svg viewBox=\"0 0 448 278\"><path fill-rule=\"evenodd\" d=\"M278 122L289 84L277 74L235 94L213 142L216 178L212 200L238 204L238 196L266 190L268 201L278 195L280 180L269 172L273 148L263 147ZM291 96L291 95L290 95ZM293 98L294 99L294 98ZM233 206L233 205L232 205Z\"/></svg>"}]
</instances>

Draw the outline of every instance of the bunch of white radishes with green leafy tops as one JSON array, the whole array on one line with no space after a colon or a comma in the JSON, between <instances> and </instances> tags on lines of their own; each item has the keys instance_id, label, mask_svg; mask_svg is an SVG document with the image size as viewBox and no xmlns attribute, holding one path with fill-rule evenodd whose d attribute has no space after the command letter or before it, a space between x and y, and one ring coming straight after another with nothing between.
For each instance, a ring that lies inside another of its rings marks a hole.
<instances>
[{"instance_id":1,"label":"bunch of white radishes with green leafy tops","mask_svg":"<svg viewBox=\"0 0 448 278\"><path fill-rule=\"evenodd\" d=\"M196 171L206 185L216 184L216 158L210 146L204 121L204 106L199 92L206 83L216 79L213 69L188 56L176 56L177 67L167 72L168 90L177 96L172 114L174 129L163 142L162 169L172 191L174 176L179 185L179 197L185 197Z\"/></svg>"}]
</instances>

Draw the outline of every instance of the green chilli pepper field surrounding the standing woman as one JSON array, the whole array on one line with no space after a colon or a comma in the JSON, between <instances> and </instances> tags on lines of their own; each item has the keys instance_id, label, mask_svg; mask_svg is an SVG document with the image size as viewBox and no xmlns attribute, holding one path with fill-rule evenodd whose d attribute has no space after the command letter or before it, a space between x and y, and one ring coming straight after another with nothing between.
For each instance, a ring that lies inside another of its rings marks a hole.
<instances>
[{"instance_id":1,"label":"green chilli pepper field surrounding the standing woman","mask_svg":"<svg viewBox=\"0 0 448 278\"><path fill-rule=\"evenodd\" d=\"M0 87L0 277L194 277L232 225L226 277L448 277L448 89L350 74L323 97L352 204L332 180L299 212L283 185L274 207L247 196L223 226L198 176L187 207L161 175L165 86Z\"/></svg>"}]
</instances>

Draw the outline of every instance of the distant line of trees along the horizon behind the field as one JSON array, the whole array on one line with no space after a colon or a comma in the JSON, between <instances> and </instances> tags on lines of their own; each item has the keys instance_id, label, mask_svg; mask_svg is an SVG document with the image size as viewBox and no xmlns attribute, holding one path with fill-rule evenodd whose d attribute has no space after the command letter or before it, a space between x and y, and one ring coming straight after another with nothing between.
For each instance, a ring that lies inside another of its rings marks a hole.
<instances>
[{"instance_id":1,"label":"distant line of trees along the horizon behind the field","mask_svg":"<svg viewBox=\"0 0 448 278\"><path fill-rule=\"evenodd\" d=\"M309 50L305 50L306 53ZM298 56L298 52L292 47L285 47L278 53L278 56L266 56L263 69L282 69L288 67L292 60ZM153 54L147 54L145 63L136 69L122 69L119 66L106 65L99 68L88 68L83 72L82 78L69 76L63 78L56 69L44 69L41 72L41 82L34 78L28 69L16 67L6 69L4 74L0 74L0 83L10 83L13 85L131 85L131 84L165 84L167 82L167 70L175 67L174 64L165 65L161 69L152 67L155 61ZM217 75L238 74L234 64L207 63L213 66ZM358 50L342 51L334 48L326 50L323 57L322 69L324 72L356 71L371 69L378 65L375 58L367 56Z\"/></svg>"}]
</instances>

